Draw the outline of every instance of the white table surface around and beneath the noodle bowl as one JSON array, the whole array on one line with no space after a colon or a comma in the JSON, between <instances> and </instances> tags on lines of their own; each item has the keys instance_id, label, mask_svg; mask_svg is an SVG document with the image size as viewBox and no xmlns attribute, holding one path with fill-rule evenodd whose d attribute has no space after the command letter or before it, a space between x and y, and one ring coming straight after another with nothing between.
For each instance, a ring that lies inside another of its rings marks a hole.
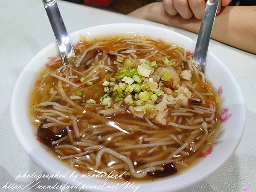
<instances>
[{"instance_id":1,"label":"white table surface around and beneath the noodle bowl","mask_svg":"<svg viewBox=\"0 0 256 192\"><path fill-rule=\"evenodd\" d=\"M74 3L58 1L58 5L70 33L106 23L144 23L177 31L195 41L197 37L191 32ZM9 104L23 67L52 41L54 36L41 0L0 0L0 191L11 191L1 189L8 181L21 185L30 183L32 178L15 180L26 171L43 173L29 159L14 135ZM241 87L246 102L246 128L233 157L214 175L185 192L242 192L244 188L256 191L256 55L217 41L211 41L209 49L224 61ZM41 183L55 184L56 180L42 180Z\"/></svg>"}]
</instances>

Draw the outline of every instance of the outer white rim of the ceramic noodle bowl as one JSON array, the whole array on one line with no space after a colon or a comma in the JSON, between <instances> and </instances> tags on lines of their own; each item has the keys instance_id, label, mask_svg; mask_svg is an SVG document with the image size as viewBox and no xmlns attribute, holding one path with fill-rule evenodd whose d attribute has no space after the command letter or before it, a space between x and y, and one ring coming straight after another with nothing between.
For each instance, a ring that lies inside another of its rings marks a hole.
<instances>
[{"instance_id":1,"label":"outer white rim of the ceramic noodle bowl","mask_svg":"<svg viewBox=\"0 0 256 192\"><path fill-rule=\"evenodd\" d=\"M94 29L97 29L97 28L108 28L108 27L116 27L116 26L122 26L122 25L126 25L126 26L133 26L133 27L145 27L145 28L152 28L152 29L161 29L161 30L168 30L170 33L174 33L178 36L180 36L181 38L185 38L191 42L193 42L193 44L195 44L195 41L193 41L191 38L185 36L185 35L182 35L180 33L177 33L175 31L171 31L169 29L166 29L166 28L162 28L162 27L157 27L157 26L151 26L151 25L144 25L144 24L137 24L137 23L114 23L114 24L105 24L105 25L98 25L98 26L93 26L93 27L88 27L88 28L85 28L85 29L81 29L79 31L76 31L76 32L73 32L70 34L70 37L72 36L77 36L77 35L80 35L81 33L83 33L83 31L86 31L86 30L94 30ZM136 30L136 29L134 29ZM104 32L103 32L104 34ZM115 35L115 34L114 34ZM41 167L41 169L43 169L45 172L47 172L48 174L52 174L52 168L51 166L49 166L47 163L45 162L42 162L42 160L38 157L35 157L35 155L33 155L32 153L30 153L30 149L31 149L31 146L27 145L26 144L26 139L23 138L23 137L20 137L19 134L21 132L21 130L19 129L21 127L21 125L19 125L19 123L16 121L16 117L17 117L17 112L15 111L15 102L17 102L17 95L18 95L18 86L19 86L19 82L21 81L22 79L22 75L23 73L29 68L29 65L31 65L31 63L33 63L33 61L38 57L38 55L40 55L41 53L47 51L48 49L50 49L53 45L55 44L55 42L49 44L48 46L46 46L44 49L41 49L41 51L39 51L30 61L28 64L26 64L26 66L23 68L22 72L20 73L20 75L18 76L17 78L17 81L15 83L15 86L12 90L12 97L11 97L11 104L10 104L10 118L11 118L11 122L12 122L12 128L15 132L15 135L17 137L17 140L19 141L21 147L23 148L23 150L26 152L26 154L28 154L28 156L30 157L30 159L35 163L37 164L39 167ZM217 61L218 63L221 65L221 67L224 68L224 70L228 73L228 75L231 77L232 79L232 82L233 82L233 85L236 86L236 89L238 90L237 94L239 95L239 98L240 98L240 102L239 104L241 104L241 111L239 111L239 113L241 114L241 127L239 128L240 130L240 135L237 139L237 142L236 142L236 145L233 145L233 150L230 151L229 154L225 155L225 157L223 158L223 160L221 162L218 162L216 163L215 167L213 169L211 169L211 171L207 172L206 174L202 175L201 177L198 177L198 178L194 178L192 181L188 181L188 182L185 182L183 183L182 186L180 187L176 187L174 189L174 191L177 191L177 190L182 190L182 189L185 189L189 186L194 186L195 184L201 182L202 180L205 180L207 177L209 177L210 175L212 175L214 172L216 172L218 169L221 168L221 166L224 165L224 163L227 162L227 160L230 159L230 157L234 154L234 152L236 151L236 148L238 147L240 141L241 141L241 138L243 136L243 133L244 133L244 128L245 128L245 102L244 102L244 97L243 97L243 94L242 94L242 91L241 91L241 88L238 84L238 82L236 81L235 77L233 76L233 74L230 72L230 70L228 69L228 67L215 55L213 54L210 50L208 51L207 55L212 55ZM29 149L30 148L30 149ZM59 162L61 163L61 162ZM200 163L200 162L199 162ZM171 179L171 178L170 178ZM70 180L69 178L58 178L57 180L60 180L62 182L70 182L72 184L75 184L74 182L72 182L72 180ZM169 179L167 179L169 180ZM159 189L160 190L160 189ZM170 189L168 188L162 188L160 191L163 191L163 192L167 192L169 191ZM97 190L97 189L93 189L91 191L103 191L103 190ZM105 190L104 190L105 191Z\"/></svg>"}]
</instances>

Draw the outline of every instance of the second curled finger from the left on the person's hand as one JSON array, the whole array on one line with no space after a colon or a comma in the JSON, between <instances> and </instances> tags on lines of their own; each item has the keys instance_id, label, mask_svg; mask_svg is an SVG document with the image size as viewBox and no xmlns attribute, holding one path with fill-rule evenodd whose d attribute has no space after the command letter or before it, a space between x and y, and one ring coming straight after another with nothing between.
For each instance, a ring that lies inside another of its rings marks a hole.
<instances>
[{"instance_id":1,"label":"second curled finger from the left on the person's hand","mask_svg":"<svg viewBox=\"0 0 256 192\"><path fill-rule=\"evenodd\" d=\"M184 19L189 19L193 16L193 12L189 7L188 0L173 0L173 4L177 12L183 17Z\"/></svg>"}]
</instances>

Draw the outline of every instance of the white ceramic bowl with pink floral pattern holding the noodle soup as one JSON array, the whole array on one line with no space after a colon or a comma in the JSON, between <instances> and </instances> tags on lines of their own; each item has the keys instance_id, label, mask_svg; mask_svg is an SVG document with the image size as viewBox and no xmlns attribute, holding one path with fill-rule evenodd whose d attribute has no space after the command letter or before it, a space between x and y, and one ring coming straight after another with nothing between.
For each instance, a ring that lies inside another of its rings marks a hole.
<instances>
[{"instance_id":1,"label":"white ceramic bowl with pink floral pattern holding the noodle soup","mask_svg":"<svg viewBox=\"0 0 256 192\"><path fill-rule=\"evenodd\" d=\"M125 23L95 26L74 32L70 35L70 38L73 44L76 44L79 41L80 35L84 35L90 40L113 35L135 34L168 40L174 44L186 47L190 51L194 51L195 49L195 42L184 35L167 29L140 24ZM31 87L35 82L35 76L47 63L47 57L57 55L58 47L56 43L48 45L35 55L17 79L10 106L13 129L20 145L33 162L48 174L57 174L59 171L60 174L65 174L73 170L49 154L38 140L36 140L35 128L29 122L28 99ZM212 153L202 158L195 166L174 177L165 177L154 180L153 182L137 182L136 184L140 185L138 191L174 192L195 185L224 165L238 147L245 124L245 105L241 89L226 65L210 51L207 55L206 75L217 90L220 86L223 90L221 96L224 98L223 108L225 109L221 115L223 121L221 126L225 130L225 133L218 139L218 144L214 145ZM221 89L219 91L221 92ZM230 116L230 114L232 115ZM80 182L84 184L90 183L91 185L100 185L103 183L113 184L112 181L108 180L105 182L95 178L77 178L75 181L71 178L59 178L59 180L69 182L69 184L73 185ZM102 191L102 189L91 189L90 191ZM119 188L117 191L128 191L128 189ZM133 190L130 189L130 191Z\"/></svg>"}]
</instances>

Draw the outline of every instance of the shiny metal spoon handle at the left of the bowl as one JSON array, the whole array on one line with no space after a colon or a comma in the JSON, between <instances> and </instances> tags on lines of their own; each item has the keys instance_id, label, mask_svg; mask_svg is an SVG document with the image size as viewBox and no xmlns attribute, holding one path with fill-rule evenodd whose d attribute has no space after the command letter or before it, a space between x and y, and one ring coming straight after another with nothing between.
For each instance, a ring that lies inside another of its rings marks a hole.
<instances>
[{"instance_id":1,"label":"shiny metal spoon handle at the left of the bowl","mask_svg":"<svg viewBox=\"0 0 256 192\"><path fill-rule=\"evenodd\" d=\"M60 10L56 0L43 0L44 9L47 13L52 26L52 31L61 52L61 58L65 62L71 57L75 57L75 52L72 47L67 29L62 20Z\"/></svg>"}]
</instances>

